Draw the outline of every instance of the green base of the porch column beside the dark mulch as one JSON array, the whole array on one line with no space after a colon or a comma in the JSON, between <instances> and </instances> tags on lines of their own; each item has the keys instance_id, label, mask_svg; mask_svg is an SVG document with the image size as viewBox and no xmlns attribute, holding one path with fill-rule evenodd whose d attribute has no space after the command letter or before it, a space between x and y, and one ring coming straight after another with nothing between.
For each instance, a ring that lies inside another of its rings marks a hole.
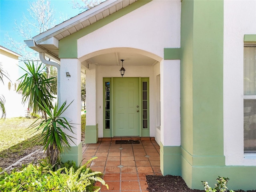
<instances>
[{"instance_id":1,"label":"green base of the porch column beside the dark mulch","mask_svg":"<svg viewBox=\"0 0 256 192\"><path fill-rule=\"evenodd\" d=\"M160 142L160 170L163 176L181 176L180 165L180 146L163 146Z\"/></svg>"}]
</instances>

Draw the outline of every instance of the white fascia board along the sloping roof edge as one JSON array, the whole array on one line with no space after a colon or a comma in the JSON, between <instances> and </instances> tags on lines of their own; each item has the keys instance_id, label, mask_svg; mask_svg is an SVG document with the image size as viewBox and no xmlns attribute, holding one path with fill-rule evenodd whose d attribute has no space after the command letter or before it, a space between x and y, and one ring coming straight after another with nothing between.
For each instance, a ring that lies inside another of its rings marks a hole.
<instances>
[{"instance_id":1,"label":"white fascia board along the sloping roof edge","mask_svg":"<svg viewBox=\"0 0 256 192\"><path fill-rule=\"evenodd\" d=\"M68 28L72 28L73 26L76 26L76 24L97 15L100 12L103 12L104 10L108 9L111 6L114 6L121 0L106 0L105 2L102 2L101 4L98 4L97 6L90 8L89 10L86 10L85 12L82 12L78 14L77 16L74 16L73 18L70 18L69 20L66 20L65 22L58 24L57 26L37 35L34 36L33 39L35 40L36 44L40 44L41 42L45 41L48 38L51 38L60 32L67 30Z\"/></svg>"}]
</instances>

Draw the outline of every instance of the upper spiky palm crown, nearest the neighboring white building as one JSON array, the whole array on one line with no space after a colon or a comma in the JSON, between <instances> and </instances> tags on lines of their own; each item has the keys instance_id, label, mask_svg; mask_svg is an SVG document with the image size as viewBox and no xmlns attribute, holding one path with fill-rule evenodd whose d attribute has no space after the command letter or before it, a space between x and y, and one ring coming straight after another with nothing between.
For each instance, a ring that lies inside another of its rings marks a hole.
<instances>
[{"instance_id":1,"label":"upper spiky palm crown, nearest the neighboring white building","mask_svg":"<svg viewBox=\"0 0 256 192\"><path fill-rule=\"evenodd\" d=\"M28 108L32 110L32 114L38 114L42 112L44 118L46 119L46 112L42 109L41 106L46 106L53 108L52 101L55 98L52 95L52 89L50 84L54 81L54 78L46 78L43 74L45 66L37 64L34 65L30 62L24 62L26 70L20 66L26 73L20 77L18 80L21 80L17 92L22 92L22 103L28 101Z\"/></svg>"}]
</instances>

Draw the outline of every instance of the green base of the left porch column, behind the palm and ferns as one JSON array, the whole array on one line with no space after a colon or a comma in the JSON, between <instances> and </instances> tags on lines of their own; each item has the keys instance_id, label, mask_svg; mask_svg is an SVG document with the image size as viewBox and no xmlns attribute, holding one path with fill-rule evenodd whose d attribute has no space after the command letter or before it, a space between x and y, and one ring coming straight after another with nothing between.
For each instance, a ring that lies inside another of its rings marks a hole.
<instances>
[{"instance_id":1,"label":"green base of the left porch column, behind the palm and ferns","mask_svg":"<svg viewBox=\"0 0 256 192\"><path fill-rule=\"evenodd\" d=\"M82 163L82 155L82 142L80 142L78 146L71 146L70 150L65 150L64 153L60 154L60 159L63 163L73 161L79 166Z\"/></svg>"}]
</instances>

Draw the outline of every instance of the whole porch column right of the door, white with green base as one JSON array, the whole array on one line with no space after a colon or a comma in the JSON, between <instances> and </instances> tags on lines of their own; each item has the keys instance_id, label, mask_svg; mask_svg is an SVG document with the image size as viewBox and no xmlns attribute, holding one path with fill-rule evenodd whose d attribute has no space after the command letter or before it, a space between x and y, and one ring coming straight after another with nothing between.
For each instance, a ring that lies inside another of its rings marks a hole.
<instances>
[{"instance_id":1,"label":"whole porch column right of the door, white with green base","mask_svg":"<svg viewBox=\"0 0 256 192\"><path fill-rule=\"evenodd\" d=\"M160 169L180 175L180 60L160 62L160 95Z\"/></svg>"}]
</instances>

